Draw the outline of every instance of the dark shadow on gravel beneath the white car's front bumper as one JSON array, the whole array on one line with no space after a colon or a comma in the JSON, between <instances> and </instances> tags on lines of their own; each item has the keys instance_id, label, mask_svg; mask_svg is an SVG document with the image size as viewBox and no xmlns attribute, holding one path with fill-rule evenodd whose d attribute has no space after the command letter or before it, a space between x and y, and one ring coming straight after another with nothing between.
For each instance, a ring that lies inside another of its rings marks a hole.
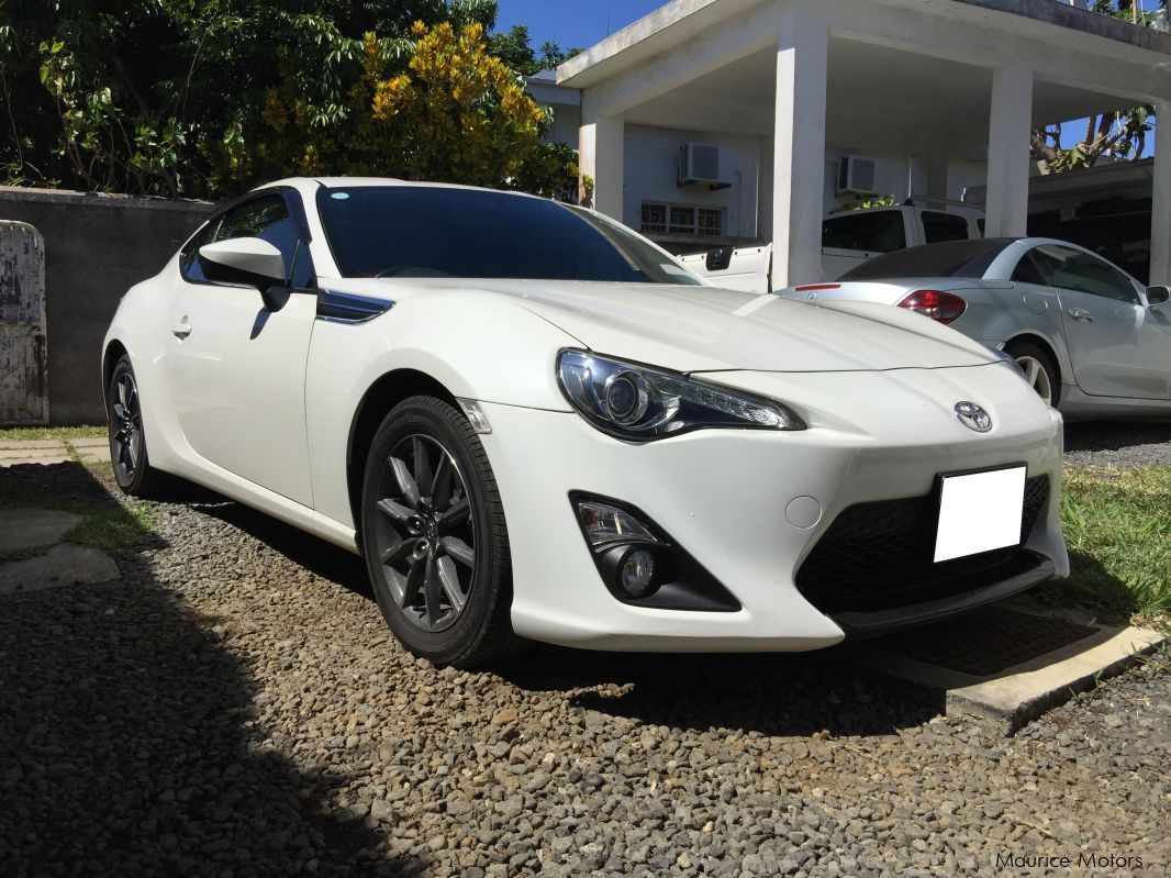
<instances>
[{"instance_id":1,"label":"dark shadow on gravel beneath the white car's front bumper","mask_svg":"<svg viewBox=\"0 0 1171 878\"><path fill-rule=\"evenodd\" d=\"M937 695L864 673L836 650L676 656L534 645L495 671L527 691L587 688L573 695L577 707L694 730L879 735L943 711Z\"/></svg>"}]
</instances>

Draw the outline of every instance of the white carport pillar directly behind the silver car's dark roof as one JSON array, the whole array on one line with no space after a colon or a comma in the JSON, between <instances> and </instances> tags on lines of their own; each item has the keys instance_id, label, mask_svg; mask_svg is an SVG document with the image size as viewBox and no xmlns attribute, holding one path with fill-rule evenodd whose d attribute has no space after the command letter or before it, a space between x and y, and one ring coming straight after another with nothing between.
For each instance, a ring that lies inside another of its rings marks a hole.
<instances>
[{"instance_id":1,"label":"white carport pillar directly behind the silver car's dark roof","mask_svg":"<svg viewBox=\"0 0 1171 878\"><path fill-rule=\"evenodd\" d=\"M988 238L1016 238L1028 222L1029 131L1033 128L1033 70L1013 62L992 74L988 119Z\"/></svg>"}]
</instances>

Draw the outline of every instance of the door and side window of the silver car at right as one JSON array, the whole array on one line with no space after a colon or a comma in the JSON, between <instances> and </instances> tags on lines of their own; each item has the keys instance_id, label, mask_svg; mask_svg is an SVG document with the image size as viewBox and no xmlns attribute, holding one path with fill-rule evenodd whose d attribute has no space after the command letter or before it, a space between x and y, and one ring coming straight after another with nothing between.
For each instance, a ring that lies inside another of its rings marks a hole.
<instances>
[{"instance_id":1,"label":"door and side window of the silver car at right","mask_svg":"<svg viewBox=\"0 0 1171 878\"><path fill-rule=\"evenodd\" d=\"M1042 243L1029 253L1061 304L1077 385L1090 396L1167 398L1171 336L1137 282L1075 247Z\"/></svg>"}]
</instances>

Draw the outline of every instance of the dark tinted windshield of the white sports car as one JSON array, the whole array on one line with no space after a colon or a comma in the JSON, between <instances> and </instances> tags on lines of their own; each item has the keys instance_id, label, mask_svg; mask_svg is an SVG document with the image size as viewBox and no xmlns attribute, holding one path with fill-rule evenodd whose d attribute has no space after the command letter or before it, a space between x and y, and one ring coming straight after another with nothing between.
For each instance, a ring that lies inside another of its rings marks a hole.
<instances>
[{"instance_id":1,"label":"dark tinted windshield of the white sports car","mask_svg":"<svg viewBox=\"0 0 1171 878\"><path fill-rule=\"evenodd\" d=\"M649 241L580 207L439 186L322 188L321 221L347 277L703 281Z\"/></svg>"}]
</instances>

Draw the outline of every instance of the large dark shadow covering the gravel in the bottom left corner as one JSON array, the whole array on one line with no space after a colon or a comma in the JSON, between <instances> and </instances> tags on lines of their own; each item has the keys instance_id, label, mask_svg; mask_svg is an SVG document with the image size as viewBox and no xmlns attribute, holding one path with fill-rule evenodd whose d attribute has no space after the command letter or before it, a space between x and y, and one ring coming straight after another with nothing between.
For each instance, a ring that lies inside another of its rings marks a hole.
<instances>
[{"instance_id":1,"label":"large dark shadow covering the gravel in the bottom left corner","mask_svg":"<svg viewBox=\"0 0 1171 878\"><path fill-rule=\"evenodd\" d=\"M76 465L37 478L112 502ZM0 597L0 871L405 871L372 830L323 812L335 778L273 752L248 667L211 622L143 560L119 565L121 582Z\"/></svg>"}]
</instances>

